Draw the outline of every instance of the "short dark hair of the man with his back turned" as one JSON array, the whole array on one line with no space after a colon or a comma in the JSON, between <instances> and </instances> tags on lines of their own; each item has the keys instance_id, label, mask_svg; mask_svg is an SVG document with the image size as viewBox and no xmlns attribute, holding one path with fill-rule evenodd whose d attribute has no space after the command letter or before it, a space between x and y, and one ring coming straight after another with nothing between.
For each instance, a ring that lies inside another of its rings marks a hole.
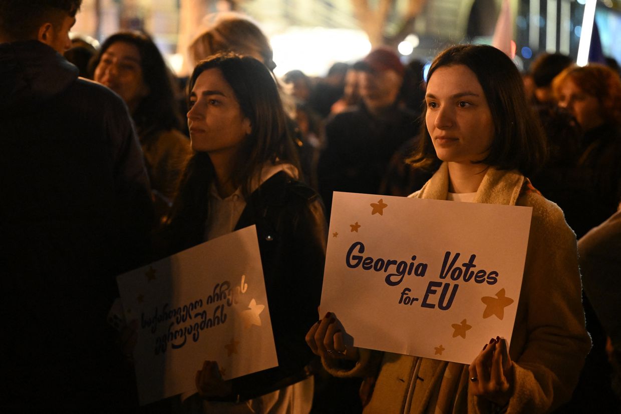
<instances>
[{"instance_id":1,"label":"short dark hair of the man with his back turned","mask_svg":"<svg viewBox=\"0 0 621 414\"><path fill-rule=\"evenodd\" d=\"M58 29L65 17L75 17L82 0L2 0L0 34L12 41L37 38L39 27Z\"/></svg>"}]
</instances>

